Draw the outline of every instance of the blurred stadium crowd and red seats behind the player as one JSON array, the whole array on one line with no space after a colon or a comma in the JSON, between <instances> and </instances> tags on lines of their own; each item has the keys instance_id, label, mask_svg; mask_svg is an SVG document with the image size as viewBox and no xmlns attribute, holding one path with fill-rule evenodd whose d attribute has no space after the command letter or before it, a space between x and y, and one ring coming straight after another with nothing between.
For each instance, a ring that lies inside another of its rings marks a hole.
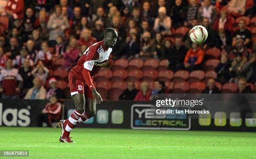
<instances>
[{"instance_id":1,"label":"blurred stadium crowd and red seats behind the player","mask_svg":"<svg viewBox=\"0 0 256 159\"><path fill-rule=\"evenodd\" d=\"M94 80L105 100L253 93L255 13L253 0L0 0L0 93L70 98L68 72L109 27L118 40ZM201 45L196 25L208 31Z\"/></svg>"}]
</instances>

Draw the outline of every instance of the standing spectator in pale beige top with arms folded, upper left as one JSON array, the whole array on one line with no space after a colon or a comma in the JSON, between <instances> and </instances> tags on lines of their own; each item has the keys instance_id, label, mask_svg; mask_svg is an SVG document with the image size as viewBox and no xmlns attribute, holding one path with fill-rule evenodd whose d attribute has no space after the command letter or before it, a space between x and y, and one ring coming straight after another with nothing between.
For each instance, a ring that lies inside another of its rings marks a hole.
<instances>
[{"instance_id":1,"label":"standing spectator in pale beige top with arms folded, upper left","mask_svg":"<svg viewBox=\"0 0 256 159\"><path fill-rule=\"evenodd\" d=\"M67 1L67 0L61 0ZM61 35L64 37L64 30L69 28L69 22L67 17L61 15L60 5L56 5L54 8L54 13L50 16L50 19L47 23L47 28L50 30L50 46L54 46L56 43L56 38Z\"/></svg>"}]
</instances>

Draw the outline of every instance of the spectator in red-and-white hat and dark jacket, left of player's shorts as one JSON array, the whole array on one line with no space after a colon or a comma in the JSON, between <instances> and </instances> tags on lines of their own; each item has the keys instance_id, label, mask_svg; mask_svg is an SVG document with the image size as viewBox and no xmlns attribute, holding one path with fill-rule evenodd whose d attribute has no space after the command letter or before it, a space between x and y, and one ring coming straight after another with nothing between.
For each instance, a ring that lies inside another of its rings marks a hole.
<instances>
[{"instance_id":1,"label":"spectator in red-and-white hat and dark jacket, left of player's shorts","mask_svg":"<svg viewBox=\"0 0 256 159\"><path fill-rule=\"evenodd\" d=\"M58 99L64 98L63 91L57 86L57 80L55 78L50 78L49 85L51 88L46 93L46 99L49 99L53 94L55 94Z\"/></svg>"}]
</instances>

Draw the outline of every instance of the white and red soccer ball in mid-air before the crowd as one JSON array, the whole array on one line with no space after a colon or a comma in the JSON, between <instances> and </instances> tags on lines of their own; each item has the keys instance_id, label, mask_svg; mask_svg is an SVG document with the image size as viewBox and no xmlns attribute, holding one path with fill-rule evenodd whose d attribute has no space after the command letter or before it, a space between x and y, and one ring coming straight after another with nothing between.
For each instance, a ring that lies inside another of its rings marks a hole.
<instances>
[{"instance_id":1,"label":"white and red soccer ball in mid-air before the crowd","mask_svg":"<svg viewBox=\"0 0 256 159\"><path fill-rule=\"evenodd\" d=\"M203 43L208 37L208 32L202 25L197 25L190 30L189 37L193 43Z\"/></svg>"}]
</instances>

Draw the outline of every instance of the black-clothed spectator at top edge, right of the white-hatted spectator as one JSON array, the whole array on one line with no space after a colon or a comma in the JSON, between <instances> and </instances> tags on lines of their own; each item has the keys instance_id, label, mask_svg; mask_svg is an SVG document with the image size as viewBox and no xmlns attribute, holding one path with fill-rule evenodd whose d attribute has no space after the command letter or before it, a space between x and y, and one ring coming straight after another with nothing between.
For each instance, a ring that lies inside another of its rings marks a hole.
<instances>
[{"instance_id":1,"label":"black-clothed spectator at top edge, right of the white-hatted spectator","mask_svg":"<svg viewBox=\"0 0 256 159\"><path fill-rule=\"evenodd\" d=\"M173 28L183 26L187 14L187 8L182 3L182 0L175 0L174 6L171 8L171 18Z\"/></svg>"}]
</instances>

